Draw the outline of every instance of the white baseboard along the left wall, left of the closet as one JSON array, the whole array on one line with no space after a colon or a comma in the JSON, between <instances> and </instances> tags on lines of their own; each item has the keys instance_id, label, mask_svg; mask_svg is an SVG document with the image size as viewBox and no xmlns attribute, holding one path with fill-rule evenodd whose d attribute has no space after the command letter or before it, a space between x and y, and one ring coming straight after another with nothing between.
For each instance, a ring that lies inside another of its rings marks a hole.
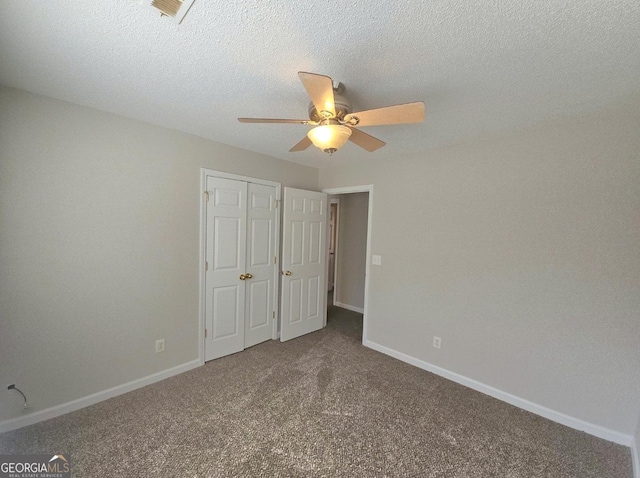
<instances>
[{"instance_id":1,"label":"white baseboard along the left wall, left of the closet","mask_svg":"<svg viewBox=\"0 0 640 478\"><path fill-rule=\"evenodd\" d=\"M131 392L138 388L142 388L147 385L151 385L152 383L159 382L160 380L173 377L174 375L181 374L188 370L199 367L200 365L202 365L202 362L200 360L193 360L191 362L187 362L185 364L163 370L162 372L147 375L146 377L132 380L131 382L117 385L115 387L108 388L107 390L93 393L91 395L87 395L86 397L78 398L77 400L72 400L71 402L56 405L55 407L46 408L44 410L39 410L37 412L29 413L21 417L12 418L10 420L5 420L3 422L0 422L0 433L33 425L44 420L49 420L50 418L59 417L60 415L64 415L65 413L80 410L81 408L94 405L109 398L122 395L123 393Z\"/></svg>"}]
</instances>

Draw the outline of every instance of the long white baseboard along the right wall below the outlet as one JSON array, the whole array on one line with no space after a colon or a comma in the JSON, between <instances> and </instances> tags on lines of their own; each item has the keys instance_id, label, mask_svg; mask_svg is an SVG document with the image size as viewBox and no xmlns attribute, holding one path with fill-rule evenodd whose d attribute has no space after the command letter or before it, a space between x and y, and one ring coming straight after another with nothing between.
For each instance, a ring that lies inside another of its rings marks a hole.
<instances>
[{"instance_id":1,"label":"long white baseboard along the right wall below the outlet","mask_svg":"<svg viewBox=\"0 0 640 478\"><path fill-rule=\"evenodd\" d=\"M459 375L455 372L450 372L449 370L446 370L442 367L438 367L437 365L432 365L428 362L417 359L415 357L411 357L410 355L406 355L402 352L398 352L397 350L393 350L389 347L385 347L384 345L377 344L370 340L365 339L363 341L363 345L373 350L377 350L378 352L381 352L385 355L389 355L393 358L397 358L398 360L402 360L403 362L406 362L408 364L411 364L418 368L426 370L427 372L434 373L448 380L459 383L460 385L464 385L465 387L469 387L469 388L472 388L473 390L477 390L478 392L484 393L485 395L489 395L493 398L497 398L498 400L502 400L503 402L507 402L511 405L514 405L518 408L522 408L523 410L527 410L528 412L535 413L536 415L540 415L541 417L547 418L551 421L560 423L570 428L575 428L576 430L584 431L590 435L596 436L598 438L602 438L607 441L618 443L619 445L624 445L628 447L632 446L633 436L631 435L625 435L624 433L620 433L615 430L610 430L600 425L594 425L593 423L585 422L578 418L570 417L569 415L565 415L564 413L551 410L550 408L543 407L542 405L538 405L536 403L530 402L528 400L525 400L524 398L516 397L515 395L511 395L510 393L503 392L502 390L498 390L497 388L491 387L489 385L485 385L484 383L478 382L476 380L465 377L463 375ZM633 453L633 449L632 449L632 453ZM636 460L637 460L637 456L636 456ZM640 478L640 477L637 476L636 474L636 478Z\"/></svg>"}]
</instances>

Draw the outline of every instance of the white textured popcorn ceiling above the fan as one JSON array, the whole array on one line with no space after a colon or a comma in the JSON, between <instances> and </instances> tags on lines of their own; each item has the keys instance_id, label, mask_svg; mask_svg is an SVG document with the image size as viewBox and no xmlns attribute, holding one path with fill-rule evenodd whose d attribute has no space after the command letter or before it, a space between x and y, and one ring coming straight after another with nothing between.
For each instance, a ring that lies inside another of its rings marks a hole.
<instances>
[{"instance_id":1,"label":"white textured popcorn ceiling above the fan","mask_svg":"<svg viewBox=\"0 0 640 478\"><path fill-rule=\"evenodd\" d=\"M289 153L297 72L356 110L422 100L419 125L363 128L333 158ZM317 167L397 158L559 115L640 105L638 0L196 0L180 25L135 0L2 0L0 84Z\"/></svg>"}]
</instances>

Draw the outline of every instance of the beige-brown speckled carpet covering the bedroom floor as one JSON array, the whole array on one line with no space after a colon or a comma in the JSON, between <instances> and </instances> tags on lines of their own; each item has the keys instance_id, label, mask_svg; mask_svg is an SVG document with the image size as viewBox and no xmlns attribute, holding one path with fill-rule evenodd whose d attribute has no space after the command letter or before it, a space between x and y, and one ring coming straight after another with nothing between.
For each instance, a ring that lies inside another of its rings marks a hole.
<instances>
[{"instance_id":1,"label":"beige-brown speckled carpet covering the bedroom floor","mask_svg":"<svg viewBox=\"0 0 640 478\"><path fill-rule=\"evenodd\" d=\"M0 435L74 477L631 478L627 448L360 344L362 317ZM67 455L68 454L68 455Z\"/></svg>"}]
</instances>

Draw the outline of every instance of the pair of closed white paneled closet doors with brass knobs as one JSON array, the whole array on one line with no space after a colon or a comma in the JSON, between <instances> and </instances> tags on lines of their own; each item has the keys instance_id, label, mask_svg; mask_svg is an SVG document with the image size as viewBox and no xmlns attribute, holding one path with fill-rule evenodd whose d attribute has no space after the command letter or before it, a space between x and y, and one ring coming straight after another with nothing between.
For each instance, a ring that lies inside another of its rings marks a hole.
<instances>
[{"instance_id":1,"label":"pair of closed white paneled closet doors with brass knobs","mask_svg":"<svg viewBox=\"0 0 640 478\"><path fill-rule=\"evenodd\" d=\"M272 338L277 280L275 186L208 176L205 360Z\"/></svg>"}]
</instances>

